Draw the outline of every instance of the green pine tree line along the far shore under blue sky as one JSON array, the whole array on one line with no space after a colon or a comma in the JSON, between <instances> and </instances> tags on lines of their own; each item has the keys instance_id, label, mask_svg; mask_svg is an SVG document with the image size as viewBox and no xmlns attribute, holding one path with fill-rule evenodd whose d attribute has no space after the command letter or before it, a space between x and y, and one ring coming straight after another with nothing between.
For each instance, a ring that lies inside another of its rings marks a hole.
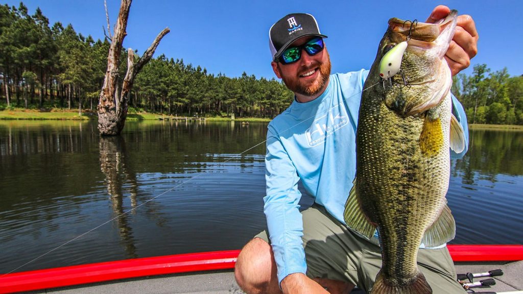
<instances>
[{"instance_id":1,"label":"green pine tree line along the far shore under blue sky","mask_svg":"<svg viewBox=\"0 0 523 294\"><path fill-rule=\"evenodd\" d=\"M2 105L33 108L95 109L107 69L107 39L94 40L72 25L49 19L37 8L0 6L0 98ZM120 77L127 71L121 54ZM506 69L491 72L486 64L471 75L453 77L452 93L469 123L523 125L523 76ZM137 76L130 111L178 116L272 118L288 107L293 94L272 78L209 74L183 59L160 55Z\"/></svg>"}]
</instances>

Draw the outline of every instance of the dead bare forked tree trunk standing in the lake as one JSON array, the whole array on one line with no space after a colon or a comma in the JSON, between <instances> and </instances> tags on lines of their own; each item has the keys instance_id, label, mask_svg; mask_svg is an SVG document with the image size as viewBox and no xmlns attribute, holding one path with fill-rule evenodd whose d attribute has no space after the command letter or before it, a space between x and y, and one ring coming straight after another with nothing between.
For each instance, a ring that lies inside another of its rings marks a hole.
<instances>
[{"instance_id":1,"label":"dead bare forked tree trunk standing in the lake","mask_svg":"<svg viewBox=\"0 0 523 294\"><path fill-rule=\"evenodd\" d=\"M130 7L131 0L121 1L115 32L111 38L111 46L109 47L109 54L107 56L107 71L98 103L98 130L101 135L118 135L123 130L127 117L129 94L134 78L142 67L149 62L162 38L170 31L169 28L162 30L158 36L156 36L151 46L145 50L143 56L138 60L135 60L133 50L131 48L128 49L127 73L123 78L120 90L118 61L120 60L123 39L127 35L126 27Z\"/></svg>"}]
</instances>

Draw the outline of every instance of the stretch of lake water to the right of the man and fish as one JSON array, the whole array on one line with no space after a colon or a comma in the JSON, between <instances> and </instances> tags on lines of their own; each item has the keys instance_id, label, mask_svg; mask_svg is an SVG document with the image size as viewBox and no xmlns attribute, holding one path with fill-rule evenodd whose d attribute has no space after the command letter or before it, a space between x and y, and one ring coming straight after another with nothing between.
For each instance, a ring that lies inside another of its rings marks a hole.
<instances>
[{"instance_id":1,"label":"stretch of lake water to the right of the man and fish","mask_svg":"<svg viewBox=\"0 0 523 294\"><path fill-rule=\"evenodd\" d=\"M458 244L520 244L523 233L523 132L472 129L453 161L447 199Z\"/></svg>"}]
</instances>

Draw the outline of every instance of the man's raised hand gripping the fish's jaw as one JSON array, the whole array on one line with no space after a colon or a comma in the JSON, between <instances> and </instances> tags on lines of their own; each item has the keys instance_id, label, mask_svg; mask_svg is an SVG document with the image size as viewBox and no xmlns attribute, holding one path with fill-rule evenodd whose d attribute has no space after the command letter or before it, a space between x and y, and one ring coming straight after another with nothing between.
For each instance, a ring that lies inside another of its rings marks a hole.
<instances>
[{"instance_id":1,"label":"man's raised hand gripping the fish's jaw","mask_svg":"<svg viewBox=\"0 0 523 294\"><path fill-rule=\"evenodd\" d=\"M447 6L439 5L434 8L426 22L434 24L449 13L450 9ZM469 67L470 60L477 54L478 38L472 17L470 15L458 16L456 32L445 54L452 75L456 75Z\"/></svg>"}]
</instances>

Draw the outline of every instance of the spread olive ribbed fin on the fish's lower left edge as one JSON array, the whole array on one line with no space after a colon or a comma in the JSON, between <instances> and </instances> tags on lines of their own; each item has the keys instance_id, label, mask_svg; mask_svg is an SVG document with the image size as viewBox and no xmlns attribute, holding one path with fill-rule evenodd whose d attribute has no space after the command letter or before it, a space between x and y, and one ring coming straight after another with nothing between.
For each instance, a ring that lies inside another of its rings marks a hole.
<instances>
[{"instance_id":1,"label":"spread olive ribbed fin on the fish's lower left edge","mask_svg":"<svg viewBox=\"0 0 523 294\"><path fill-rule=\"evenodd\" d=\"M365 216L365 213L363 213L361 210L361 206L358 202L358 197L356 194L356 178L354 178L353 188L350 189L349 198L347 198L347 202L345 203L343 217L350 229L364 236L368 240L370 240L370 238L374 235L376 226L369 222Z\"/></svg>"}]
</instances>

